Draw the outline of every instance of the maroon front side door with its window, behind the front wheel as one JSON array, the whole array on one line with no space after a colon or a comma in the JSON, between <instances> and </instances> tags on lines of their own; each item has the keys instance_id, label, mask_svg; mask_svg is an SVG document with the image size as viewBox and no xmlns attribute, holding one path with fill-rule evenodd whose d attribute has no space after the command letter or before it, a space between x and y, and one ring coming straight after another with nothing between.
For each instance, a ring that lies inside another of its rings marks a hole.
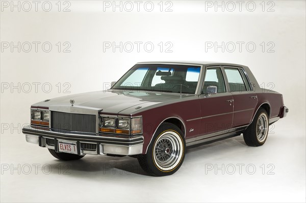
<instances>
[{"instance_id":1,"label":"maroon front side door with its window, behind the front wheel","mask_svg":"<svg viewBox=\"0 0 306 203\"><path fill-rule=\"evenodd\" d=\"M217 86L217 94L207 95L207 87ZM208 67L201 95L201 135L214 136L216 132L226 133L232 128L233 122L233 96L226 91L225 81L221 67Z\"/></svg>"}]
</instances>

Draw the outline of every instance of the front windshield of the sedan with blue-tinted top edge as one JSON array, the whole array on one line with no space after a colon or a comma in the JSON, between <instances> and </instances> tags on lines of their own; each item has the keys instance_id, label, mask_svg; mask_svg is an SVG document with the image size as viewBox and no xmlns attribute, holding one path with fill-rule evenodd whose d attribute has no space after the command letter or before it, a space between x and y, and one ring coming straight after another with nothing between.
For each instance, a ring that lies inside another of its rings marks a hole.
<instances>
[{"instance_id":1,"label":"front windshield of the sedan with blue-tinted top edge","mask_svg":"<svg viewBox=\"0 0 306 203\"><path fill-rule=\"evenodd\" d=\"M137 64L112 89L195 94L199 75L199 66Z\"/></svg>"}]
</instances>

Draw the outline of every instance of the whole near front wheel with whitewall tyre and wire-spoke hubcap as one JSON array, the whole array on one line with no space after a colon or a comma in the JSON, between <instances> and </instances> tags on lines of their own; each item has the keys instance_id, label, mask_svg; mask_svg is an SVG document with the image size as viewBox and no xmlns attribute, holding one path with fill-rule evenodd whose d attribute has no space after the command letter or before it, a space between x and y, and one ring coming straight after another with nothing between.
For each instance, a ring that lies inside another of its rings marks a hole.
<instances>
[{"instance_id":1,"label":"whole near front wheel with whitewall tyre and wire-spoke hubcap","mask_svg":"<svg viewBox=\"0 0 306 203\"><path fill-rule=\"evenodd\" d=\"M138 155L144 171L152 176L168 176L179 170L185 158L183 132L177 126L163 123L156 131L147 154Z\"/></svg>"}]
</instances>

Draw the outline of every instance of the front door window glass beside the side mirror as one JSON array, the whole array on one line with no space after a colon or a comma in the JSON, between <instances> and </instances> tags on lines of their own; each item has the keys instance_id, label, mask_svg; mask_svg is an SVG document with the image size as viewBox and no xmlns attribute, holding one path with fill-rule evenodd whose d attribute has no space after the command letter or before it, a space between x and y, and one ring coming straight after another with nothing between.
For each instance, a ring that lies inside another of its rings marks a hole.
<instances>
[{"instance_id":1,"label":"front door window glass beside the side mirror","mask_svg":"<svg viewBox=\"0 0 306 203\"><path fill-rule=\"evenodd\" d=\"M220 68L208 68L206 70L202 94L207 93L208 86L217 86L217 93L225 92L225 83Z\"/></svg>"}]
</instances>

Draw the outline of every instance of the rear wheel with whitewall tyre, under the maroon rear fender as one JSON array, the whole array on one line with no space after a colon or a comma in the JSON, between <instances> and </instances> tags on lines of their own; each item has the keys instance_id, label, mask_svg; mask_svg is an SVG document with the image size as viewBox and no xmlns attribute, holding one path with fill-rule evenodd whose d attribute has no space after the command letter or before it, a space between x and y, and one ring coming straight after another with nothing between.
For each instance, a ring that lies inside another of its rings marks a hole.
<instances>
[{"instance_id":1,"label":"rear wheel with whitewall tyre, under the maroon rear fender","mask_svg":"<svg viewBox=\"0 0 306 203\"><path fill-rule=\"evenodd\" d=\"M265 109L258 109L253 122L243 132L244 142L248 146L258 147L262 146L268 137L269 119L268 113Z\"/></svg>"}]
</instances>

